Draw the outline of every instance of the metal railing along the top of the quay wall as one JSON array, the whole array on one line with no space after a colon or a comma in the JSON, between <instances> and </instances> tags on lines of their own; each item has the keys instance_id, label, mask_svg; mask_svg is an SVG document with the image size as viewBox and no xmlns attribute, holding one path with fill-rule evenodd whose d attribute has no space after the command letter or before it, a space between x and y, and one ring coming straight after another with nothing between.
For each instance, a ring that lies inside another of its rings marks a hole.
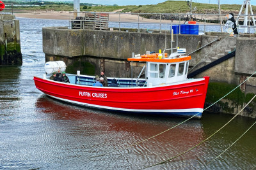
<instances>
[{"instance_id":1,"label":"metal railing along the top of the quay wall","mask_svg":"<svg viewBox=\"0 0 256 170\"><path fill-rule=\"evenodd\" d=\"M81 19L71 19L72 13L70 12L70 29L72 29L72 22L79 22ZM186 20L195 20L197 25L200 27L199 31L202 33L205 32L225 32L223 28L225 28L225 24L223 20L227 20L226 15L219 14L191 14L191 13L113 13L113 12L79 12L76 15L81 16L83 18L84 15L90 14L108 14L109 20L108 22L109 28L118 29L121 31L122 28L131 28L136 29L136 31L157 31L162 32L170 30L170 25L182 25L186 22ZM239 18L243 18L244 16L248 16L249 21L252 20L252 17L256 15L240 15ZM237 18L237 15L235 15ZM84 20L83 22L93 22L94 20ZM100 22L100 21L99 21ZM250 32L255 33L256 27L254 25L239 25L239 27L244 28L248 27ZM81 27L84 29L84 27ZM238 28L239 29L239 28Z\"/></svg>"}]
</instances>

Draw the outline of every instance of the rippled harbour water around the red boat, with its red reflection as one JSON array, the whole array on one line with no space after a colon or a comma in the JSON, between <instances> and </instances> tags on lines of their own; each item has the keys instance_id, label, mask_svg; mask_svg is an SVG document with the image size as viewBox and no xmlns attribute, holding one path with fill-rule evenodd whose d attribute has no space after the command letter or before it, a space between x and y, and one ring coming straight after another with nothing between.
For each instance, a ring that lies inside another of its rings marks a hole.
<instances>
[{"instance_id":1,"label":"rippled harbour water around the red boat, with its red reflection","mask_svg":"<svg viewBox=\"0 0 256 170\"><path fill-rule=\"evenodd\" d=\"M116 115L61 103L35 88L44 73L42 27L66 20L20 20L22 66L0 66L0 169L143 169L206 139L232 116L204 113L138 146L182 118ZM255 119L238 117L207 142L172 162L148 169L253 169L256 127L212 164ZM95 157L101 155L100 157Z\"/></svg>"}]
</instances>

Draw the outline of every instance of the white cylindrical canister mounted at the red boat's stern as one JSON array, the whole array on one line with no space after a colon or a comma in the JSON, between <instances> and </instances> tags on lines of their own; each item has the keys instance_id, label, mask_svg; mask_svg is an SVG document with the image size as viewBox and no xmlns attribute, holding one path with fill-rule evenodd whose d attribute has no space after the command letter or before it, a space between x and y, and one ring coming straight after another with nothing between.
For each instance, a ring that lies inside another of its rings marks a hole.
<instances>
[{"instance_id":1,"label":"white cylindrical canister mounted at the red boat's stern","mask_svg":"<svg viewBox=\"0 0 256 170\"><path fill-rule=\"evenodd\" d=\"M49 61L49 62L46 62L45 65L44 65L44 69L45 69L45 72L47 74L51 74L53 73L54 71L58 72L60 70L60 73L62 71L65 71L66 70L66 64L65 62L59 60L59 61Z\"/></svg>"}]
</instances>

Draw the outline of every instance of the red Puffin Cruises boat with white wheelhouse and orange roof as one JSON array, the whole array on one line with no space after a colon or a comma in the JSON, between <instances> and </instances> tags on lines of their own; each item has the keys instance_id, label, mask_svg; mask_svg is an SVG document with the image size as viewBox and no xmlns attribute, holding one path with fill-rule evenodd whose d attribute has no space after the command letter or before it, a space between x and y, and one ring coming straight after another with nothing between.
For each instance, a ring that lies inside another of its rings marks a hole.
<instances>
[{"instance_id":1,"label":"red Puffin Cruises boat with white wheelhouse and orange roof","mask_svg":"<svg viewBox=\"0 0 256 170\"><path fill-rule=\"evenodd\" d=\"M182 54L184 49L169 57L156 54L129 58L131 62L146 63L146 78L116 78L119 87L93 87L93 76L79 73L74 76L72 83L36 76L34 80L36 88L47 96L68 103L127 113L200 118L204 110L209 77L188 79L191 57ZM108 81L112 79L108 78Z\"/></svg>"}]
</instances>

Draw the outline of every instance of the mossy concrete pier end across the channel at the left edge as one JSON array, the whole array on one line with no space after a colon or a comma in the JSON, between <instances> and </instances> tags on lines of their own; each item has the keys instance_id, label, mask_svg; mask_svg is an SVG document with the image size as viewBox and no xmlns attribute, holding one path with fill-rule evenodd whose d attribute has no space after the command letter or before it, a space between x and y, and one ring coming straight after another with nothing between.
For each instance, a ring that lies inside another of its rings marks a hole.
<instances>
[{"instance_id":1,"label":"mossy concrete pier end across the channel at the left edge","mask_svg":"<svg viewBox=\"0 0 256 170\"><path fill-rule=\"evenodd\" d=\"M0 65L22 64L19 20L14 15L0 18Z\"/></svg>"}]
</instances>

